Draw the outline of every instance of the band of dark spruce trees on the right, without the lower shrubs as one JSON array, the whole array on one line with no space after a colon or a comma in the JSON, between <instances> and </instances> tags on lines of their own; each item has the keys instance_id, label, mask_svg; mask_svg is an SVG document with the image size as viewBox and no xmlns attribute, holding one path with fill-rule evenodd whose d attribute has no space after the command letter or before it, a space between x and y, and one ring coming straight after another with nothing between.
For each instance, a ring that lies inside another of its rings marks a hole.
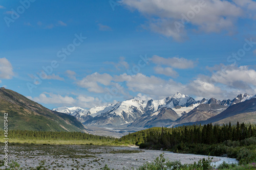
<instances>
[{"instance_id":1,"label":"band of dark spruce trees on the right, without the lower shrubs","mask_svg":"<svg viewBox=\"0 0 256 170\"><path fill-rule=\"evenodd\" d=\"M176 128L150 128L120 138L144 148L171 149L180 143L216 144L225 140L256 137L256 125L192 125ZM256 141L255 141L256 143Z\"/></svg>"}]
</instances>

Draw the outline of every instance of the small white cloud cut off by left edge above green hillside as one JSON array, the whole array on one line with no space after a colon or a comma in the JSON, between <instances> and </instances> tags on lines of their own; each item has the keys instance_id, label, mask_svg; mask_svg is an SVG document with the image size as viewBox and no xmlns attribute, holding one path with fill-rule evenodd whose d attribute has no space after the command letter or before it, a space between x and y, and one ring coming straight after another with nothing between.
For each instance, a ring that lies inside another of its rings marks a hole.
<instances>
[{"instance_id":1,"label":"small white cloud cut off by left edge above green hillside","mask_svg":"<svg viewBox=\"0 0 256 170\"><path fill-rule=\"evenodd\" d=\"M6 58L0 58L0 79L12 79L12 64Z\"/></svg>"}]
</instances>

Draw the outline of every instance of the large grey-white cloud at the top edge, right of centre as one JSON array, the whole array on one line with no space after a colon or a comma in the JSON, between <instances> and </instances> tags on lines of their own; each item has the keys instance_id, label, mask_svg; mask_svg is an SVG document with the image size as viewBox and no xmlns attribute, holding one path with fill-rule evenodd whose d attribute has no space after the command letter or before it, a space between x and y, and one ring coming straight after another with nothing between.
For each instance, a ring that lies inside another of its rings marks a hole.
<instances>
[{"instance_id":1,"label":"large grey-white cloud at the top edge, right of centre","mask_svg":"<svg viewBox=\"0 0 256 170\"><path fill-rule=\"evenodd\" d=\"M244 16L240 7L244 3L239 6L227 0L122 0L122 4L138 10L147 18L144 28L176 40L181 40L186 34L187 23L202 32L233 32L234 23Z\"/></svg>"}]
</instances>

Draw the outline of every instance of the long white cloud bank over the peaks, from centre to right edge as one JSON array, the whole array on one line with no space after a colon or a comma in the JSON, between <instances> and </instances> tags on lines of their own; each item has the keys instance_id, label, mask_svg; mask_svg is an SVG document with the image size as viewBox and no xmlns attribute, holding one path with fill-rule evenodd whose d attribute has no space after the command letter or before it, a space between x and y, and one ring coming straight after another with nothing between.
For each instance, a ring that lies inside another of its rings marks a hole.
<instances>
[{"instance_id":1,"label":"long white cloud bank over the peaks, from centre to right edge","mask_svg":"<svg viewBox=\"0 0 256 170\"><path fill-rule=\"evenodd\" d=\"M158 69L159 72L163 71L163 68ZM115 76L114 81L125 82L128 90L141 92L158 99L177 91L198 98L219 100L232 99L239 93L256 93L256 71L254 69L234 65L220 65L208 69L211 71L210 76L198 75L187 84L143 74L133 76L123 74Z\"/></svg>"}]
</instances>

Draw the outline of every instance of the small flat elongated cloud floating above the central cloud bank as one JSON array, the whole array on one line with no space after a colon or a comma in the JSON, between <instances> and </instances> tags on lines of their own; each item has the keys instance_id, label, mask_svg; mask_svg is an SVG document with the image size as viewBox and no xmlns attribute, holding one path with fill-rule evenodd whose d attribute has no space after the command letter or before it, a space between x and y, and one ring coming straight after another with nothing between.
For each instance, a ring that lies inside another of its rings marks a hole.
<instances>
[{"instance_id":1,"label":"small flat elongated cloud floating above the central cloud bank","mask_svg":"<svg viewBox=\"0 0 256 170\"><path fill-rule=\"evenodd\" d=\"M167 65L172 66L173 68L180 68L180 69L186 69L186 68L194 68L195 62L191 60L187 60L185 58L163 58L159 57L157 55L154 55L152 57L152 62L159 65Z\"/></svg>"}]
</instances>

